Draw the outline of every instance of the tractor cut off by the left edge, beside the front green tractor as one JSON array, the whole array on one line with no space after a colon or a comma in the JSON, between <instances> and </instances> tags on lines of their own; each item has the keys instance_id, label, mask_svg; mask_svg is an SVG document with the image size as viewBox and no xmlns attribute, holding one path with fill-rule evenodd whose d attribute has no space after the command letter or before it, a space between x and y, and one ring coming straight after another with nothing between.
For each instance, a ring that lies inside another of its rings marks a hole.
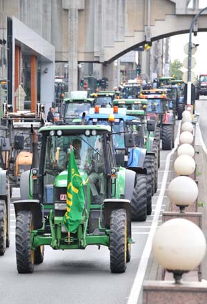
<instances>
[{"instance_id":1,"label":"tractor cut off by the left edge, beside the front green tractor","mask_svg":"<svg viewBox=\"0 0 207 304\"><path fill-rule=\"evenodd\" d=\"M3 126L0 128L0 256L10 246L10 183L6 168L10 143L6 138L6 129Z\"/></svg>"}]
</instances>

